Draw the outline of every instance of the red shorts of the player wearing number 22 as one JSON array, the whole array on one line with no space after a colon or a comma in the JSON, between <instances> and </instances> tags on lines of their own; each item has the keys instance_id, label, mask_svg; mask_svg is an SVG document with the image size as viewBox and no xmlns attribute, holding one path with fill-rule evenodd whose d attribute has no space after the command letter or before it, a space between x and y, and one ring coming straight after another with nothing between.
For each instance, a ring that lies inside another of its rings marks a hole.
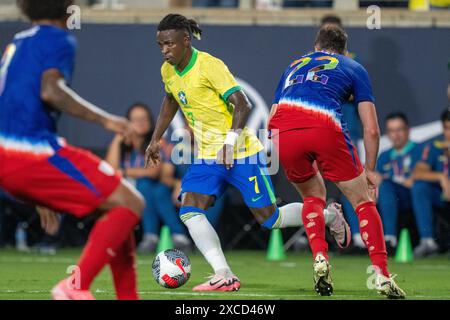
<instances>
[{"instance_id":1,"label":"red shorts of the player wearing number 22","mask_svg":"<svg viewBox=\"0 0 450 320\"><path fill-rule=\"evenodd\" d=\"M356 148L343 132L329 128L303 128L273 136L289 181L302 183L317 174L332 182L358 177L363 167Z\"/></svg>"}]
</instances>

